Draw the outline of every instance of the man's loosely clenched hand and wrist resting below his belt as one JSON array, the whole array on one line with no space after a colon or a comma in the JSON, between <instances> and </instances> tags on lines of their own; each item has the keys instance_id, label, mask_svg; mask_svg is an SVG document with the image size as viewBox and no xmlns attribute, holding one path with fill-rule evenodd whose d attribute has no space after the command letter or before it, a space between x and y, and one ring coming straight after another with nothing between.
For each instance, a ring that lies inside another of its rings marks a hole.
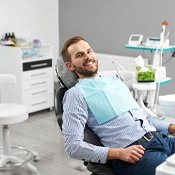
<instances>
[{"instance_id":1,"label":"man's loosely clenched hand and wrist resting below his belt","mask_svg":"<svg viewBox=\"0 0 175 175\"><path fill-rule=\"evenodd\" d=\"M120 159L129 163L136 163L142 158L145 148L141 145L133 145L127 148L110 148L108 159Z\"/></svg>"}]
</instances>

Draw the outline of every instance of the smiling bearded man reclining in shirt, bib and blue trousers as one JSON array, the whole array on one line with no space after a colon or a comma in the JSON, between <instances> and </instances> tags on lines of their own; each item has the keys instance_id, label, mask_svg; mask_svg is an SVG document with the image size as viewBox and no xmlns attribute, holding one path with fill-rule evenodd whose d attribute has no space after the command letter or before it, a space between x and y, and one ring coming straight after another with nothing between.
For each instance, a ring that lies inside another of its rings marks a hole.
<instances>
[{"instance_id":1,"label":"smiling bearded man reclining in shirt, bib and blue trousers","mask_svg":"<svg viewBox=\"0 0 175 175\"><path fill-rule=\"evenodd\" d=\"M76 159L105 163L117 175L154 175L155 168L175 153L175 126L150 116L118 78L101 77L98 60L82 37L70 38L62 58L79 79L63 99L65 149ZM104 147L83 141L88 125Z\"/></svg>"}]
</instances>

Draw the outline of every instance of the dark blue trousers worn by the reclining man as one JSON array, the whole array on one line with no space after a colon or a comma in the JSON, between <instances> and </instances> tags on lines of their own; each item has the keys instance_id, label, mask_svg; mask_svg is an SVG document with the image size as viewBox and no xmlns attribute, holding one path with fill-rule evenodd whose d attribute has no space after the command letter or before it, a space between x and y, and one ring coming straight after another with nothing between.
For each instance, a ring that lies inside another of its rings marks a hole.
<instances>
[{"instance_id":1,"label":"dark blue trousers worn by the reclining man","mask_svg":"<svg viewBox=\"0 0 175 175\"><path fill-rule=\"evenodd\" d=\"M175 138L168 137L167 131L161 131L151 141L141 145L145 148L145 153L137 163L118 159L111 161L117 175L155 175L156 167L175 153Z\"/></svg>"}]
</instances>

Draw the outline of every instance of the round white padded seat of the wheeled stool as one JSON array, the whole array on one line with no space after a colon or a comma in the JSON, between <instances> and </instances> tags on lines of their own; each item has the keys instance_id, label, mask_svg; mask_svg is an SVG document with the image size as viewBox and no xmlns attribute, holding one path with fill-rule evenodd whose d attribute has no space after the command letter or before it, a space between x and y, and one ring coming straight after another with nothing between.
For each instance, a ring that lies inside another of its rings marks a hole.
<instances>
[{"instance_id":1,"label":"round white padded seat of the wheeled stool","mask_svg":"<svg viewBox=\"0 0 175 175\"><path fill-rule=\"evenodd\" d=\"M27 107L22 104L0 104L0 124L9 125L28 119Z\"/></svg>"}]
</instances>

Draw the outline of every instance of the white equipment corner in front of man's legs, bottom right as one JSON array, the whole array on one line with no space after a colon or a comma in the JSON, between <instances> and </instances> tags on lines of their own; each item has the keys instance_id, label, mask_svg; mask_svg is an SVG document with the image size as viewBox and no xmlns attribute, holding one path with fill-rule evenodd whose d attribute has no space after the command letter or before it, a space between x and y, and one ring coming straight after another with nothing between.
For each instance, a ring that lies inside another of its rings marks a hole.
<instances>
[{"instance_id":1,"label":"white equipment corner in front of man's legs, bottom right","mask_svg":"<svg viewBox=\"0 0 175 175\"><path fill-rule=\"evenodd\" d=\"M175 154L166 159L165 162L156 167L156 175L175 174Z\"/></svg>"}]
</instances>

